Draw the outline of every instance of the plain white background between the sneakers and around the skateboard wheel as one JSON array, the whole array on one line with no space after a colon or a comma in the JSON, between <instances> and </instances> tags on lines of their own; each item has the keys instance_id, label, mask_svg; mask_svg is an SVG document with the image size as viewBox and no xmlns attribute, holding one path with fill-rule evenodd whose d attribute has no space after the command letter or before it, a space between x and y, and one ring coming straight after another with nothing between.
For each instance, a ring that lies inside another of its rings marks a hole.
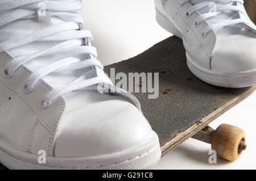
<instances>
[{"instance_id":1,"label":"plain white background between the sneakers and around the skateboard wheel","mask_svg":"<svg viewBox=\"0 0 256 181\"><path fill-rule=\"evenodd\" d=\"M84 0L85 27L94 36L98 59L103 65L126 60L171 36L155 22L153 0ZM176 148L154 169L256 169L256 93L210 124L222 123L242 128L247 136L247 150L236 162L218 158L208 163L210 145L189 139Z\"/></svg>"}]
</instances>

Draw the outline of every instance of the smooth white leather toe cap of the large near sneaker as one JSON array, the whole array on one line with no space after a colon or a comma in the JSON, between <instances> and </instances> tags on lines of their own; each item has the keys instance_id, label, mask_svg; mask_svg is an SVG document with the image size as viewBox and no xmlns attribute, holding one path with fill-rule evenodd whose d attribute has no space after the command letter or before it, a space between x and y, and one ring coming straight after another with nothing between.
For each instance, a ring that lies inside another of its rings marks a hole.
<instances>
[{"instance_id":1,"label":"smooth white leather toe cap of the large near sneaker","mask_svg":"<svg viewBox=\"0 0 256 181\"><path fill-rule=\"evenodd\" d=\"M55 156L87 157L116 153L150 140L143 114L125 100L107 100L67 112L57 132Z\"/></svg>"}]
</instances>

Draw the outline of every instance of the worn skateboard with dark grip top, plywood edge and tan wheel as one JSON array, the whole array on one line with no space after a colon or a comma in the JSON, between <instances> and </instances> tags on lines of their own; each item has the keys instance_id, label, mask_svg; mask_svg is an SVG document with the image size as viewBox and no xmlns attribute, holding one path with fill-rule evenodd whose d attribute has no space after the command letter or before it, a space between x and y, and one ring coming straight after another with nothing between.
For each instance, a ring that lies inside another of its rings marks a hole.
<instances>
[{"instance_id":1,"label":"worn skateboard with dark grip top, plywood edge and tan wheel","mask_svg":"<svg viewBox=\"0 0 256 181\"><path fill-rule=\"evenodd\" d=\"M142 91L133 95L159 136L162 156L190 137L212 144L212 150L229 161L236 160L246 149L242 129L222 124L214 130L208 124L252 94L255 86L226 89L201 81L189 71L179 38L171 36L134 58L106 66L105 72L110 75L112 68L116 74L127 76L129 73L158 73L158 98L148 99L151 93ZM134 81L133 86L142 89L144 83L147 81L137 84Z\"/></svg>"}]
</instances>

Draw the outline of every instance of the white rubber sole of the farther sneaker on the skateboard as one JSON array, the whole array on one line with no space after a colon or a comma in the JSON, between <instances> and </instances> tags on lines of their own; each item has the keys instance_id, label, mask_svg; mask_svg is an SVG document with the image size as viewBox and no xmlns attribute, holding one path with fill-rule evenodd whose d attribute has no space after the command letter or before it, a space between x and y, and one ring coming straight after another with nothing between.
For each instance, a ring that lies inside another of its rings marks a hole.
<instances>
[{"instance_id":1,"label":"white rubber sole of the farther sneaker on the skateboard","mask_svg":"<svg viewBox=\"0 0 256 181\"><path fill-rule=\"evenodd\" d=\"M164 28L164 30L174 34L182 39L182 33L177 30L174 24L161 12L156 9L156 21ZM233 72L233 73L220 73L212 70L201 68L196 64L195 60L187 54L187 65L189 70L204 82L214 86L240 88L256 85L256 70Z\"/></svg>"}]
</instances>

